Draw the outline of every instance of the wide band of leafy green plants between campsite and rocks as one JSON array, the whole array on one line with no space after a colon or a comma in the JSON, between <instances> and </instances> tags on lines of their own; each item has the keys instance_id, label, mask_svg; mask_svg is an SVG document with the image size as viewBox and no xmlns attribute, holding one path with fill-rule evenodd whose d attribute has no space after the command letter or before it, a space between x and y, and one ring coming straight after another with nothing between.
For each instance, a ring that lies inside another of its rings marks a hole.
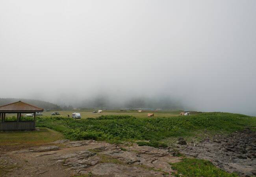
<instances>
[{"instance_id":1,"label":"wide band of leafy green plants between campsite and rocks","mask_svg":"<svg viewBox=\"0 0 256 177\"><path fill-rule=\"evenodd\" d=\"M256 126L256 118L242 114L221 112L200 113L191 116L163 118L135 118L134 116L100 116L74 120L63 117L38 117L36 126L47 127L62 132L71 140L104 140L119 142L122 140L149 140L139 142L141 146L165 146L161 140L185 136L187 132L209 130L212 132L231 133ZM158 144L156 143L158 142Z\"/></svg>"}]
</instances>

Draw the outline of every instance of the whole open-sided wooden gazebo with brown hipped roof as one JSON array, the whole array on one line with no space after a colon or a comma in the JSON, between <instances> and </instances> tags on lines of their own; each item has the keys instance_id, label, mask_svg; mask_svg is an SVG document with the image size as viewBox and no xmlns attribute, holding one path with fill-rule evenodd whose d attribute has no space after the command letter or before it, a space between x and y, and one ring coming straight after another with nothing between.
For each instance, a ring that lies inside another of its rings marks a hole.
<instances>
[{"instance_id":1,"label":"whole open-sided wooden gazebo with brown hipped roof","mask_svg":"<svg viewBox=\"0 0 256 177\"><path fill-rule=\"evenodd\" d=\"M34 130L35 112L43 112L44 109L18 101L0 106L0 131L2 130ZM17 120L6 121L6 114L17 113ZM34 113L33 120L22 120L21 113Z\"/></svg>"}]
</instances>

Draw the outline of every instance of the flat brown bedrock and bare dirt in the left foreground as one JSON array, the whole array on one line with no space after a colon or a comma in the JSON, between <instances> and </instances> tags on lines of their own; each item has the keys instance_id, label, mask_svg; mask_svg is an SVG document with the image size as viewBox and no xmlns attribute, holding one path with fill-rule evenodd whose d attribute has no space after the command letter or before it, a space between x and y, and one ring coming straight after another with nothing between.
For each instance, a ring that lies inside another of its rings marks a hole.
<instances>
[{"instance_id":1,"label":"flat brown bedrock and bare dirt in the left foreground","mask_svg":"<svg viewBox=\"0 0 256 177\"><path fill-rule=\"evenodd\" d=\"M2 154L1 159L17 166L6 176L70 177L90 174L103 177L161 177L174 171L168 162L180 161L180 157L171 155L171 149L149 146L125 146L124 149L94 140L60 140L55 144L58 146L40 146Z\"/></svg>"}]
</instances>

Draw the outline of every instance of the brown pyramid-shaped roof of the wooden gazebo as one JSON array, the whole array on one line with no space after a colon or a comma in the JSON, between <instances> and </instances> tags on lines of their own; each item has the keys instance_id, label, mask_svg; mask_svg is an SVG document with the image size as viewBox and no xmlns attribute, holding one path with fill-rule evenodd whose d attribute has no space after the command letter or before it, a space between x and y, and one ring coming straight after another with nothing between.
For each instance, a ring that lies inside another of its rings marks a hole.
<instances>
[{"instance_id":1,"label":"brown pyramid-shaped roof of the wooden gazebo","mask_svg":"<svg viewBox=\"0 0 256 177\"><path fill-rule=\"evenodd\" d=\"M43 112L43 108L17 101L7 105L0 106L0 112Z\"/></svg>"}]
</instances>

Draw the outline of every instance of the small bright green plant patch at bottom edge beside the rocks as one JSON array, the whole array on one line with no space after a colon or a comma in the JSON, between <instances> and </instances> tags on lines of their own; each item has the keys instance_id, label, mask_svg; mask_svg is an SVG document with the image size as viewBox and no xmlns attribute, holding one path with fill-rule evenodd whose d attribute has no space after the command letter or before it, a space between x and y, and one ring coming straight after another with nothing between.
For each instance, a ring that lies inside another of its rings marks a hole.
<instances>
[{"instance_id":1,"label":"small bright green plant patch at bottom edge beside the rocks","mask_svg":"<svg viewBox=\"0 0 256 177\"><path fill-rule=\"evenodd\" d=\"M226 173L207 160L184 158L182 161L170 163L170 165L173 170L178 171L178 173L172 174L177 177L180 177L179 173L190 177L238 177L236 173Z\"/></svg>"}]
</instances>

